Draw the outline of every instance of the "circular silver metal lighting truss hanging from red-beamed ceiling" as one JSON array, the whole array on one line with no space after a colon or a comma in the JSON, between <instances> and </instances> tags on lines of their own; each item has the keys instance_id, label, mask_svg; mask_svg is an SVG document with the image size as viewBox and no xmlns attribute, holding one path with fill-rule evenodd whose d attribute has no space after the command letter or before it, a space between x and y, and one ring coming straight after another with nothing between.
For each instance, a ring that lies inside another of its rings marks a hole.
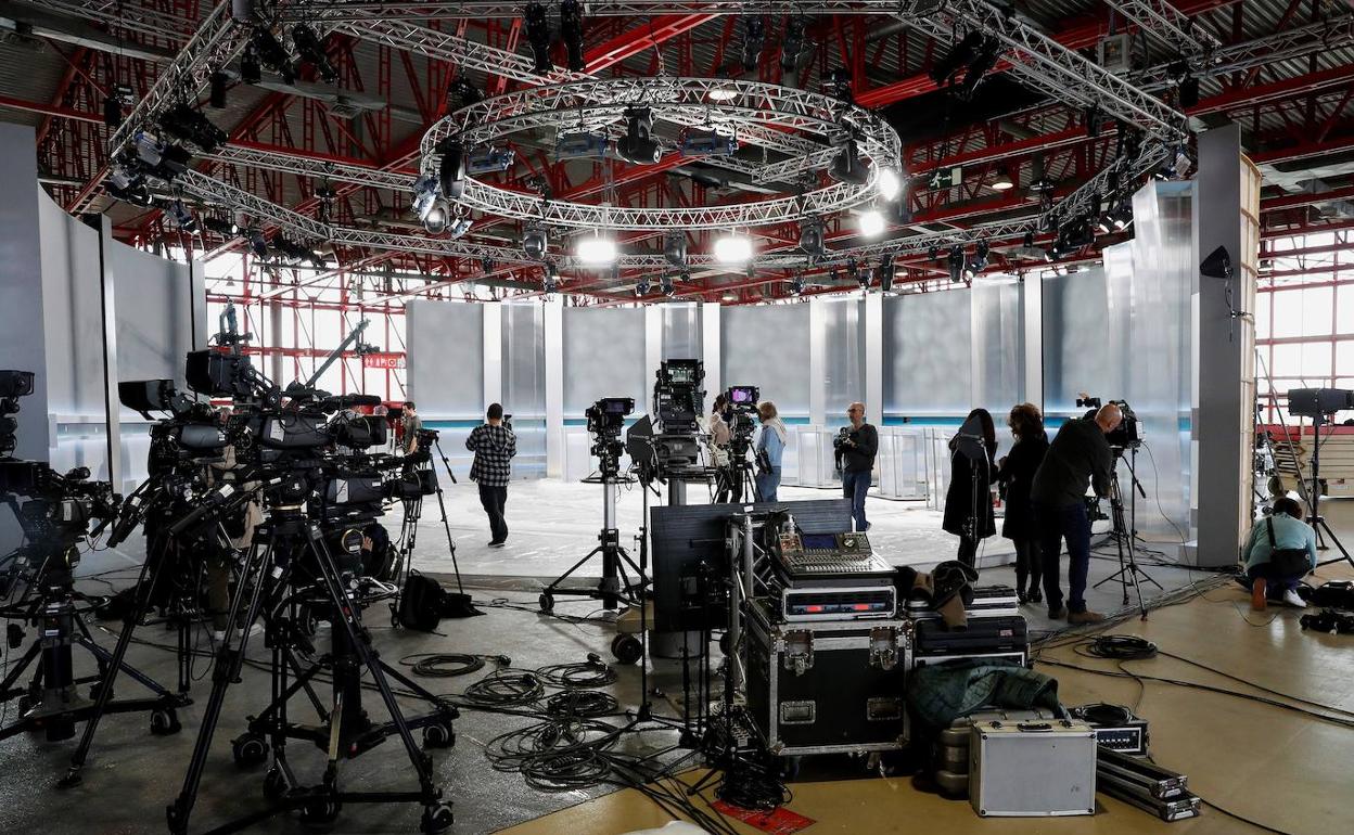
<instances>
[{"instance_id":1,"label":"circular silver metal lighting truss hanging from red-beamed ceiling","mask_svg":"<svg viewBox=\"0 0 1354 835\"><path fill-rule=\"evenodd\" d=\"M716 100L711 91L737 91ZM872 200L883 168L895 168L902 143L883 119L838 99L776 84L724 78L608 78L515 91L464 107L433 125L421 143L421 171L436 176L439 146L454 139L468 152L493 146L525 130L555 129L558 134L598 131L612 138L626 133L627 110L649 108L655 122L681 129L714 130L781 152L791 158L812 156L814 168L827 168L833 148L856 141L858 157L869 161L862 183L830 183L795 196L692 208L627 208L570 200L492 185L466 176L456 202L501 218L573 229L693 230L750 229L831 215ZM655 135L655 138L658 138ZM661 141L665 154L681 153ZM608 150L607 157L613 152ZM719 157L692 156L692 161ZM747 161L739 160L741 165Z\"/></svg>"}]
</instances>

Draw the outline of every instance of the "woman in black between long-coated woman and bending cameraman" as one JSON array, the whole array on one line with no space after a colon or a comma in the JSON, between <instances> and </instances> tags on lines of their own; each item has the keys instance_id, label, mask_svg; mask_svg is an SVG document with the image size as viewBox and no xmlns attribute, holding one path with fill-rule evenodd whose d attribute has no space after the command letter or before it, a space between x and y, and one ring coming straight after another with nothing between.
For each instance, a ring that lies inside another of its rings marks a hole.
<instances>
[{"instance_id":1,"label":"woman in black between long-coated woman and bending cameraman","mask_svg":"<svg viewBox=\"0 0 1354 835\"><path fill-rule=\"evenodd\" d=\"M1048 452L1048 433L1044 432L1044 415L1033 403L1013 406L1006 425L1016 436L1016 445L1002 457L997 468L997 480L1006 494L1002 536L1016 545L1016 595L1022 604L1037 604L1044 600L1039 585L1043 563L1029 489L1034 483L1034 472L1044 463L1044 453ZM1029 586L1025 585L1026 581Z\"/></svg>"}]
</instances>

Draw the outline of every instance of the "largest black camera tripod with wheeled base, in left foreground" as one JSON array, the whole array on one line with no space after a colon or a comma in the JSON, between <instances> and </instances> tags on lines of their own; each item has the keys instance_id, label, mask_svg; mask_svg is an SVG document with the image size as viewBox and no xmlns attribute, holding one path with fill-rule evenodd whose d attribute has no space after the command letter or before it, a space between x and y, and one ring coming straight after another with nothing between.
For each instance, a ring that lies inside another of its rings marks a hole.
<instances>
[{"instance_id":1,"label":"largest black camera tripod with wheeled base, in left foreground","mask_svg":"<svg viewBox=\"0 0 1354 835\"><path fill-rule=\"evenodd\" d=\"M417 803L424 807L422 832L450 827L451 804L441 800L441 790L433 785L431 759L418 750L413 731L424 728L424 743L428 747L450 746L455 740L451 720L456 717L456 709L378 659L371 647L371 635L362 624L363 601L355 600L349 593L348 578L340 575L320 524L302 513L299 505L274 506L271 518L259 529L246 556L244 577L253 578L252 586L241 583L230 605L230 623L241 624L238 646L233 643L234 636L227 633L217 650L202 729L194 744L183 789L168 809L169 831L175 835L188 831L226 690L240 677L249 627L260 617L265 625L265 644L272 648L274 698L263 713L250 719L249 731L233 742L232 752L237 763L257 765L268 758L271 746L272 765L263 781L264 796L271 805L211 832L240 831L290 811L299 811L306 823L330 823L345 803ZM298 627L297 613L302 608L329 617L333 636L329 652L315 658L305 670L301 669L295 651L298 646L305 648L309 644ZM241 610L245 612L242 621ZM288 673L292 670L297 679L288 682ZM329 671L332 679L333 700L328 710L310 686L321 671ZM380 693L390 713L389 723L375 724L362 709L363 673L370 675ZM433 712L406 720L387 677L435 705ZM320 716L315 727L298 725L287 717L287 702L301 692L306 693ZM389 736L398 736L403 743L418 778L418 790L343 790L338 785L338 759L357 757ZM301 785L287 761L287 739L310 740L325 750L326 765L318 785Z\"/></svg>"}]
</instances>

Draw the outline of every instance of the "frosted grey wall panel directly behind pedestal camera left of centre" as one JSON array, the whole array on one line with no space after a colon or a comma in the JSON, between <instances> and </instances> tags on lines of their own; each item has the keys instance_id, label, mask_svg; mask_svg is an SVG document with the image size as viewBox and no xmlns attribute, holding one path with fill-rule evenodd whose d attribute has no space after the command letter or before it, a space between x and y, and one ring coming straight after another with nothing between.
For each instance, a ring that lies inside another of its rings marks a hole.
<instances>
[{"instance_id":1,"label":"frosted grey wall panel directly behind pedestal camera left of centre","mask_svg":"<svg viewBox=\"0 0 1354 835\"><path fill-rule=\"evenodd\" d=\"M581 418L598 398L645 402L645 311L566 307L565 418Z\"/></svg>"}]
</instances>

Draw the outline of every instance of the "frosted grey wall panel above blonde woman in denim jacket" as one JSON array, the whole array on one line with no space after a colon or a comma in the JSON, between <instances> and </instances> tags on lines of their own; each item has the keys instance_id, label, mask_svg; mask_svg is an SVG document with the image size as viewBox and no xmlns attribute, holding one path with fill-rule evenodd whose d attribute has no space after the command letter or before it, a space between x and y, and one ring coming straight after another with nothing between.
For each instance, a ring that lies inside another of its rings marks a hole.
<instances>
[{"instance_id":1,"label":"frosted grey wall panel above blonde woman in denim jacket","mask_svg":"<svg viewBox=\"0 0 1354 835\"><path fill-rule=\"evenodd\" d=\"M808 304L726 307L719 318L722 384L758 386L783 415L807 415Z\"/></svg>"}]
</instances>

